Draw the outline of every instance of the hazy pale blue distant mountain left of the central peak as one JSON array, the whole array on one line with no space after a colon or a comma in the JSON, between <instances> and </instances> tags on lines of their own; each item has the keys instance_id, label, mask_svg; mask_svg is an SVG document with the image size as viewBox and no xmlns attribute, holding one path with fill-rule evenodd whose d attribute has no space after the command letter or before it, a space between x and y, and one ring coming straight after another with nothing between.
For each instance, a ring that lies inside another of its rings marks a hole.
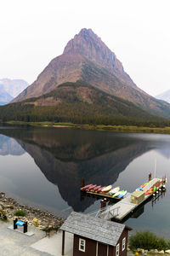
<instances>
[{"instance_id":1,"label":"hazy pale blue distant mountain left of the central peak","mask_svg":"<svg viewBox=\"0 0 170 256\"><path fill-rule=\"evenodd\" d=\"M0 79L0 105L11 102L29 84L21 79Z\"/></svg>"}]
</instances>

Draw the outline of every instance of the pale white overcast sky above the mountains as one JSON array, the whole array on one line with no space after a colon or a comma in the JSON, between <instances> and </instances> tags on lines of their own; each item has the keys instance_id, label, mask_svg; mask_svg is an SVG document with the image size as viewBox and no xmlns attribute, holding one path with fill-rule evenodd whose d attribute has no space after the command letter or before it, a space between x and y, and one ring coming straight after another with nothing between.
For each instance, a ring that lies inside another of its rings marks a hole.
<instances>
[{"instance_id":1,"label":"pale white overcast sky above the mountains","mask_svg":"<svg viewBox=\"0 0 170 256\"><path fill-rule=\"evenodd\" d=\"M67 42L91 28L134 83L170 90L170 0L0 0L0 79L29 84Z\"/></svg>"}]
</instances>

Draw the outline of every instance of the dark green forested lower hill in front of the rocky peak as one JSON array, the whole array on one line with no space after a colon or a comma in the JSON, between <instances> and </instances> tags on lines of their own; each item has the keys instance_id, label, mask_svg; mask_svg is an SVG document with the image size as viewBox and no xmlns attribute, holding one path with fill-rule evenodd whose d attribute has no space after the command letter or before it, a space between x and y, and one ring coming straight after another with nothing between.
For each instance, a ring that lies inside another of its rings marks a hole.
<instances>
[{"instance_id":1,"label":"dark green forested lower hill in front of the rocky peak","mask_svg":"<svg viewBox=\"0 0 170 256\"><path fill-rule=\"evenodd\" d=\"M83 95L81 91L83 90ZM50 99L50 106L48 105ZM89 84L65 83L37 98L0 107L1 121L71 122L90 125L162 127L169 121L146 113L132 102L94 89Z\"/></svg>"}]
</instances>

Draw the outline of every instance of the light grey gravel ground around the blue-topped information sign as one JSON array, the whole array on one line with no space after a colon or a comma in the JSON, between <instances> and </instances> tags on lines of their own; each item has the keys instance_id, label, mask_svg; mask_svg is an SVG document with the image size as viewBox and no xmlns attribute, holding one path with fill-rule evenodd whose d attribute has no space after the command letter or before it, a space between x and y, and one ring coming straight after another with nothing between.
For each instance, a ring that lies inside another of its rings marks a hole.
<instances>
[{"instance_id":1,"label":"light grey gravel ground around the blue-topped information sign","mask_svg":"<svg viewBox=\"0 0 170 256\"><path fill-rule=\"evenodd\" d=\"M28 227L28 231L33 232L33 236L26 236L14 230L8 230L12 222L3 223L0 221L0 255L1 256L51 256L49 253L42 253L30 247L31 244L42 239L45 233L33 226Z\"/></svg>"}]
</instances>

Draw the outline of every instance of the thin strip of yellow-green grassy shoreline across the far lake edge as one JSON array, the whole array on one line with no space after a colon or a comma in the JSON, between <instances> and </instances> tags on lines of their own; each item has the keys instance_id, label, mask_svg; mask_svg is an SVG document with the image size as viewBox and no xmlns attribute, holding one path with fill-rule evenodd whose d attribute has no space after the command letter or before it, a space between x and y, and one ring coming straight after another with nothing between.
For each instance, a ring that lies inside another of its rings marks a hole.
<instances>
[{"instance_id":1,"label":"thin strip of yellow-green grassy shoreline across the far lake edge","mask_svg":"<svg viewBox=\"0 0 170 256\"><path fill-rule=\"evenodd\" d=\"M134 133L156 133L170 134L170 127L147 127L147 126L128 126L128 125L80 125L72 123L54 123L54 122L21 122L8 121L3 125L30 125L35 127L51 127L51 128L76 128L90 131L112 131L112 132L134 132Z\"/></svg>"}]
</instances>

